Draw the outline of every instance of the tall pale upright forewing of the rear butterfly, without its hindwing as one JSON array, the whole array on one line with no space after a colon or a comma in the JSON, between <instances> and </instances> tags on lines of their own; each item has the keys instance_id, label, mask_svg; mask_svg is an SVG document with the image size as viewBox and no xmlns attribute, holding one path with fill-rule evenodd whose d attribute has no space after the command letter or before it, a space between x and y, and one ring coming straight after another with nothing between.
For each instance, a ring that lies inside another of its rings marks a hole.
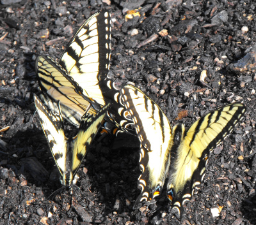
<instances>
[{"instance_id":1,"label":"tall pale upright forewing of the rear butterfly, without its hindwing","mask_svg":"<svg viewBox=\"0 0 256 225\"><path fill-rule=\"evenodd\" d=\"M74 35L60 58L60 65L84 89L105 105L99 85L109 72L111 18L108 11L95 13Z\"/></svg>"}]
</instances>

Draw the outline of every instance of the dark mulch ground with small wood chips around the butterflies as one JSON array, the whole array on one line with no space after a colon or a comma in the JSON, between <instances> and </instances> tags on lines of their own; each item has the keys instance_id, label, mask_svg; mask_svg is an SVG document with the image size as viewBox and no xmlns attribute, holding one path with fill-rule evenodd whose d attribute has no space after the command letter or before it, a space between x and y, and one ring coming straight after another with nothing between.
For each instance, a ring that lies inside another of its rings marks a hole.
<instances>
[{"instance_id":1,"label":"dark mulch ground with small wood chips around the butterflies","mask_svg":"<svg viewBox=\"0 0 256 225\"><path fill-rule=\"evenodd\" d=\"M255 1L18 1L0 6L0 128L10 126L0 140L0 224L256 224ZM139 7L141 17L125 22L125 11ZM101 8L113 18L116 83L140 87L172 125L188 127L233 101L248 107L211 154L181 222L168 212L164 192L154 207L132 210L140 193L133 136L96 139L79 170L79 189L49 198L60 183L35 114L35 57L58 59L84 19ZM212 216L213 208L222 209L220 216Z\"/></svg>"}]
</instances>

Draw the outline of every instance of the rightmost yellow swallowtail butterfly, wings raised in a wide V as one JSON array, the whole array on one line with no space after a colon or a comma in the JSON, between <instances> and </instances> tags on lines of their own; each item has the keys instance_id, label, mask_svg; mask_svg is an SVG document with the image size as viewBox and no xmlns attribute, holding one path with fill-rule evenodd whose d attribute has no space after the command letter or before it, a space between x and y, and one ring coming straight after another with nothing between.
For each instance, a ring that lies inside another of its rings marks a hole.
<instances>
[{"instance_id":1,"label":"rightmost yellow swallowtail butterfly, wings raised in a wide V","mask_svg":"<svg viewBox=\"0 0 256 225\"><path fill-rule=\"evenodd\" d=\"M183 124L171 128L163 111L140 89L125 85L121 96L141 142L141 194L134 208L158 196L168 177L167 196L180 217L184 203L204 178L209 153L232 132L246 108L241 103L223 106L185 131Z\"/></svg>"}]
</instances>

